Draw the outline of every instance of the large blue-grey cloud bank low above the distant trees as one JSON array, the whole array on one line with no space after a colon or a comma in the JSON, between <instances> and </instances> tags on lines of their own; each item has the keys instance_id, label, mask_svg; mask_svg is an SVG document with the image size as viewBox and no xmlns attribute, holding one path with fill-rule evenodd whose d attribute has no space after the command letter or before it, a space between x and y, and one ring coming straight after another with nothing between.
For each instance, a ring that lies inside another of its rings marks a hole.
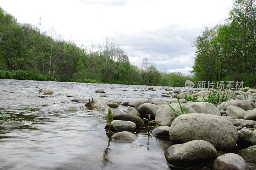
<instances>
[{"instance_id":1,"label":"large blue-grey cloud bank low above the distant trees","mask_svg":"<svg viewBox=\"0 0 256 170\"><path fill-rule=\"evenodd\" d=\"M117 33L113 39L120 43L134 65L140 66L142 59L148 57L159 70L183 69L188 74L186 68L193 65L192 45L200 32L201 28L172 25L129 35Z\"/></svg>"}]
</instances>

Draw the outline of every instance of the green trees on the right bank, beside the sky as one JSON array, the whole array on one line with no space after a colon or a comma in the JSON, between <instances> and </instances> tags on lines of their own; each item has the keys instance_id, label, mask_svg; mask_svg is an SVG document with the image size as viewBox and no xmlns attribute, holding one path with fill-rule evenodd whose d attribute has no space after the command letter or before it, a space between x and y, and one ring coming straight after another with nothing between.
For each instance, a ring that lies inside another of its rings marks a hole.
<instances>
[{"instance_id":1,"label":"green trees on the right bank, beside the sky","mask_svg":"<svg viewBox=\"0 0 256 170\"><path fill-rule=\"evenodd\" d=\"M255 0L235 0L224 24L205 27L194 43L195 80L256 85L255 7Z\"/></svg>"}]
</instances>

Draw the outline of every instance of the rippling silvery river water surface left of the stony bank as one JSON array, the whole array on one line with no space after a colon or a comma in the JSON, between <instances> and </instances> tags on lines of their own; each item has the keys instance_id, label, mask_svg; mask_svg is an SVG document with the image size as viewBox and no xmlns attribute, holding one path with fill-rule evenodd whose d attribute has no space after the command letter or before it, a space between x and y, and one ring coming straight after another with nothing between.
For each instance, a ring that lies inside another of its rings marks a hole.
<instances>
[{"instance_id":1,"label":"rippling silvery river water surface left of the stony bank","mask_svg":"<svg viewBox=\"0 0 256 170\"><path fill-rule=\"evenodd\" d=\"M39 98L35 87L52 89L54 94ZM170 169L164 157L172 145L169 138L151 137L147 129L137 129L135 142L109 141L106 120L100 118L103 111L88 110L66 96L76 93L83 99L104 102L162 98L165 91L157 86L152 86L156 91L140 91L148 87L0 79L0 111L28 118L32 108L35 117L30 125L0 128L0 169ZM99 97L96 89L103 89L108 97ZM42 106L45 104L49 106ZM79 111L62 111L68 106ZM113 109L117 113L123 110L127 107Z\"/></svg>"}]
</instances>

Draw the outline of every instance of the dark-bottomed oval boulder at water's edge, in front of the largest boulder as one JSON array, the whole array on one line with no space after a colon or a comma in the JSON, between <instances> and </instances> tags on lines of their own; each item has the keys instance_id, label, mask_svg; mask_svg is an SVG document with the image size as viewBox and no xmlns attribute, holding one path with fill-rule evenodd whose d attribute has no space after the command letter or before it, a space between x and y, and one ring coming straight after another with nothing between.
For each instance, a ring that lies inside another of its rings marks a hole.
<instances>
[{"instance_id":1,"label":"dark-bottomed oval boulder at water's edge, in front of the largest boulder","mask_svg":"<svg viewBox=\"0 0 256 170\"><path fill-rule=\"evenodd\" d=\"M217 151L209 142L194 140L172 145L164 155L166 161L172 165L192 167L213 161L217 157Z\"/></svg>"}]
</instances>

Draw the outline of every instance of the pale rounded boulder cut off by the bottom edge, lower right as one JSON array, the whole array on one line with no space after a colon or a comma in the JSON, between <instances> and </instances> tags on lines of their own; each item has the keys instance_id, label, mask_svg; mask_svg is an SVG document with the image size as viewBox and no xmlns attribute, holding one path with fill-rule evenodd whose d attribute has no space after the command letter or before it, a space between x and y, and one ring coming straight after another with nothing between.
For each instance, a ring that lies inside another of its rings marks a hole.
<instances>
[{"instance_id":1,"label":"pale rounded boulder cut off by the bottom edge, lower right","mask_svg":"<svg viewBox=\"0 0 256 170\"><path fill-rule=\"evenodd\" d=\"M227 153L213 161L212 170L246 170L246 163L241 156Z\"/></svg>"}]
</instances>

